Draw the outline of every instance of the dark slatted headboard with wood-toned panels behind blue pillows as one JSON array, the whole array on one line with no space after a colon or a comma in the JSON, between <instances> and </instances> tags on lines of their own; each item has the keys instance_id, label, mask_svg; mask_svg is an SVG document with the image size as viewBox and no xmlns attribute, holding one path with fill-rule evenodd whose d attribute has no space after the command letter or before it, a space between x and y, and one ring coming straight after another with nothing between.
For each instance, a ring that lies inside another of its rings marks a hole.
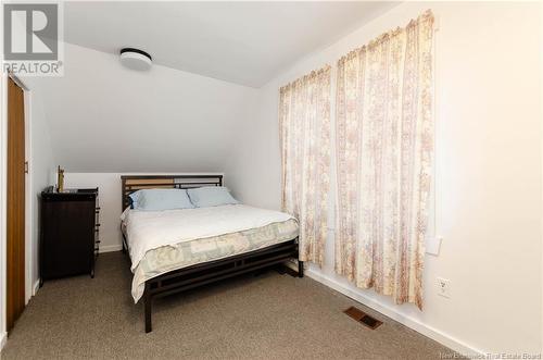
<instances>
[{"instance_id":1,"label":"dark slatted headboard with wood-toned panels behind blue pillows","mask_svg":"<svg viewBox=\"0 0 543 360\"><path fill-rule=\"evenodd\" d=\"M129 207L128 196L150 188L188 189L202 186L223 186L223 175L123 175L121 176L123 208Z\"/></svg>"}]
</instances>

